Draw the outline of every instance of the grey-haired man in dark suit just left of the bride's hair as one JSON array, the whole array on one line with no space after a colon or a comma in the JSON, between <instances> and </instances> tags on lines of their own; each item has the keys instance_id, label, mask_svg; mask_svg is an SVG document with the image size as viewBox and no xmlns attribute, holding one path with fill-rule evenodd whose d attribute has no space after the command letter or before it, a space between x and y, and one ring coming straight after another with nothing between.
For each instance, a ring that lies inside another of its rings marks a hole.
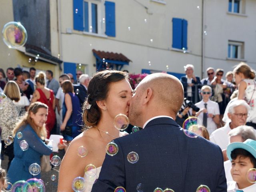
<instances>
[{"instance_id":1,"label":"grey-haired man in dark suit just left of the bride's hair","mask_svg":"<svg viewBox=\"0 0 256 192\"><path fill-rule=\"evenodd\" d=\"M90 81L90 77L87 74L82 74L79 77L79 86L74 86L74 91L79 98L80 105L84 104L84 100L87 98L87 87Z\"/></svg>"}]
</instances>

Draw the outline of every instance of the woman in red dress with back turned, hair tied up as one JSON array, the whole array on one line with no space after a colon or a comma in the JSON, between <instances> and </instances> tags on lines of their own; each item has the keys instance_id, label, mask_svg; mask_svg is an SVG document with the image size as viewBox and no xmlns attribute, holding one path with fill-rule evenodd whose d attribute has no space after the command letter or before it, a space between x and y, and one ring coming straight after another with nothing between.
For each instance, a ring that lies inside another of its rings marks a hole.
<instances>
[{"instance_id":1,"label":"woman in red dress with back turned, hair tied up","mask_svg":"<svg viewBox=\"0 0 256 192\"><path fill-rule=\"evenodd\" d=\"M45 84L45 73L39 72L36 76L36 90L31 99L31 103L40 101L48 106L48 116L46 120L47 138L50 137L50 132L54 127L56 121L55 115L55 97L52 90L44 86Z\"/></svg>"}]
</instances>

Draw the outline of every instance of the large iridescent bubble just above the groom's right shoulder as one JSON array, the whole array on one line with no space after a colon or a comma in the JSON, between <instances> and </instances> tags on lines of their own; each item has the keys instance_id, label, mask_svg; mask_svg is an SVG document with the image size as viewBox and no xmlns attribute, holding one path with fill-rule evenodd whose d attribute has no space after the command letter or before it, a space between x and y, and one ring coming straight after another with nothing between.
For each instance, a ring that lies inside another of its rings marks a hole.
<instances>
[{"instance_id":1,"label":"large iridescent bubble just above the groom's right shoulder","mask_svg":"<svg viewBox=\"0 0 256 192\"><path fill-rule=\"evenodd\" d=\"M197 138L202 132L200 128L202 125L202 121L199 118L189 117L183 122L182 130L186 136Z\"/></svg>"}]
</instances>

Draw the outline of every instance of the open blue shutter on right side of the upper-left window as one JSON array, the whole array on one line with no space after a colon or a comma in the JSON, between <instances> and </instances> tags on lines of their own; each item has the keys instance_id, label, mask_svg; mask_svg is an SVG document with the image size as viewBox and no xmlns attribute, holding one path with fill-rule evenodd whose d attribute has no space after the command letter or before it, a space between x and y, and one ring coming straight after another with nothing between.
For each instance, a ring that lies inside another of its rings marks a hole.
<instances>
[{"instance_id":1,"label":"open blue shutter on right side of the upper-left window","mask_svg":"<svg viewBox=\"0 0 256 192\"><path fill-rule=\"evenodd\" d=\"M106 35L116 36L116 16L115 16L115 3L105 1L105 20L106 20Z\"/></svg>"}]
</instances>

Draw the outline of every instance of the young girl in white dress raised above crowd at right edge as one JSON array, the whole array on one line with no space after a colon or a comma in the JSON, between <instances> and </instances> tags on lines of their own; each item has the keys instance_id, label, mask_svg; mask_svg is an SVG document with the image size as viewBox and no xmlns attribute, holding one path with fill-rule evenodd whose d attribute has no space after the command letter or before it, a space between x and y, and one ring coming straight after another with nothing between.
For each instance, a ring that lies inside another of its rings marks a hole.
<instances>
[{"instance_id":1,"label":"young girl in white dress raised above crowd at right edge","mask_svg":"<svg viewBox=\"0 0 256 192\"><path fill-rule=\"evenodd\" d=\"M241 62L233 70L235 82L238 86L238 99L244 99L251 107L248 112L246 125L256 129L256 81L255 72L248 64Z\"/></svg>"}]
</instances>

